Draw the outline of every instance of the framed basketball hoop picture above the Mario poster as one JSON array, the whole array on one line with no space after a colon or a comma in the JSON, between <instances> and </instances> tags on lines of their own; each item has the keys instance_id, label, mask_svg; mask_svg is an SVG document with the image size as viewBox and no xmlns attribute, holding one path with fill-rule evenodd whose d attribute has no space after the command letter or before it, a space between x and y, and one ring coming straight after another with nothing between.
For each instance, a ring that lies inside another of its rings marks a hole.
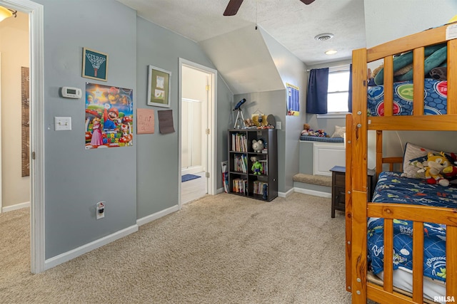
<instances>
[{"instance_id":1,"label":"framed basketball hoop picture above the Mario poster","mask_svg":"<svg viewBox=\"0 0 457 304\"><path fill-rule=\"evenodd\" d=\"M108 79L108 54L83 48L83 77L106 81Z\"/></svg>"}]
</instances>

